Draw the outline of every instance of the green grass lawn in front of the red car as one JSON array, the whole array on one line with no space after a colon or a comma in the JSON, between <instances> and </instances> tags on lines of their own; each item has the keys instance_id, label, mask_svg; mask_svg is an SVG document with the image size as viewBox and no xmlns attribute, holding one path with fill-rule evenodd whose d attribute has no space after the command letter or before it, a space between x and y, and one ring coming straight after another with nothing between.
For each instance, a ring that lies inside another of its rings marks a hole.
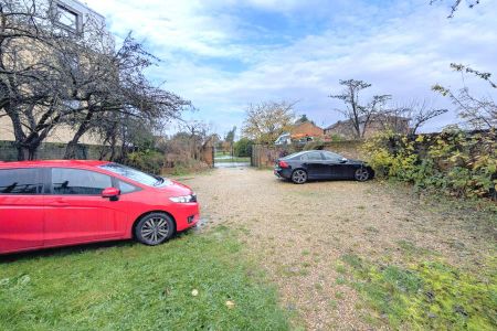
<instances>
[{"instance_id":1,"label":"green grass lawn in front of the red car","mask_svg":"<svg viewBox=\"0 0 497 331\"><path fill-rule=\"evenodd\" d=\"M0 330L286 330L264 276L220 226L0 260Z\"/></svg>"}]
</instances>

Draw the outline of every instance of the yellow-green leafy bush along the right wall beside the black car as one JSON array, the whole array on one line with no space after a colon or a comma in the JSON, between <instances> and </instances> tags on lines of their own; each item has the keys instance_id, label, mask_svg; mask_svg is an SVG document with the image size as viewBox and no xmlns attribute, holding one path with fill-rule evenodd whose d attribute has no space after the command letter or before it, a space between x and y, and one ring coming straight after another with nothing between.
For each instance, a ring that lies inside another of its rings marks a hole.
<instances>
[{"instance_id":1,"label":"yellow-green leafy bush along the right wall beside the black car","mask_svg":"<svg viewBox=\"0 0 497 331\"><path fill-rule=\"evenodd\" d=\"M364 152L378 175L416 188L436 188L454 196L497 197L495 130L472 135L448 129L415 139L382 132L364 143Z\"/></svg>"}]
</instances>

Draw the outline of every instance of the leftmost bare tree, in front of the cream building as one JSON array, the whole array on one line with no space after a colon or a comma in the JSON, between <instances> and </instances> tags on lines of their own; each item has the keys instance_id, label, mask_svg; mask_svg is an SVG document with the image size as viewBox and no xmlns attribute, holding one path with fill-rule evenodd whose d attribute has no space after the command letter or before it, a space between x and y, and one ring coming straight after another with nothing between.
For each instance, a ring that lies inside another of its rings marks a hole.
<instances>
[{"instance_id":1,"label":"leftmost bare tree, in front of the cream building","mask_svg":"<svg viewBox=\"0 0 497 331\"><path fill-rule=\"evenodd\" d=\"M20 160L33 159L52 130L77 113L75 102L85 96L75 85L93 83L78 81L80 63L92 67L113 49L98 20L86 18L82 34L59 24L59 15L51 0L0 0L0 111L12 121Z\"/></svg>"}]
</instances>

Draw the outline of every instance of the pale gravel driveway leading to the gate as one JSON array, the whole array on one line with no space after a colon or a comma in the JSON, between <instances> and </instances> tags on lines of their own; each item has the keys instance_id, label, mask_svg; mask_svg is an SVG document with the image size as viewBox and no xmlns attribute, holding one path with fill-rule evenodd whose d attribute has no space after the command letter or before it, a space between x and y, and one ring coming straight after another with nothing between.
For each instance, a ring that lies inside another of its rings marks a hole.
<instances>
[{"instance_id":1,"label":"pale gravel driveway leading to the gate","mask_svg":"<svg viewBox=\"0 0 497 331\"><path fill-rule=\"evenodd\" d=\"M197 191L208 228L223 224L242 233L282 305L309 330L371 329L368 308L340 281L343 254L394 263L403 257L400 243L412 243L467 268L495 254L487 223L468 223L472 215L379 181L295 185L255 169L216 169L182 181Z\"/></svg>"}]
</instances>

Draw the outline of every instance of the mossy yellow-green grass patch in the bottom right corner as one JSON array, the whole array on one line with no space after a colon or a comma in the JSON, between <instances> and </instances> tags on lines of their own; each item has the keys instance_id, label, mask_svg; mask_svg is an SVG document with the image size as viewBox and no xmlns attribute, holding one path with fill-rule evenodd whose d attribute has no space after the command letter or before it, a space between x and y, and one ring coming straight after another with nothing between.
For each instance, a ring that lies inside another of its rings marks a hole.
<instances>
[{"instance_id":1,"label":"mossy yellow-green grass patch in the bottom right corner","mask_svg":"<svg viewBox=\"0 0 497 331\"><path fill-rule=\"evenodd\" d=\"M438 261L374 266L357 256L353 286L394 329L496 330L497 268L478 278Z\"/></svg>"}]
</instances>

